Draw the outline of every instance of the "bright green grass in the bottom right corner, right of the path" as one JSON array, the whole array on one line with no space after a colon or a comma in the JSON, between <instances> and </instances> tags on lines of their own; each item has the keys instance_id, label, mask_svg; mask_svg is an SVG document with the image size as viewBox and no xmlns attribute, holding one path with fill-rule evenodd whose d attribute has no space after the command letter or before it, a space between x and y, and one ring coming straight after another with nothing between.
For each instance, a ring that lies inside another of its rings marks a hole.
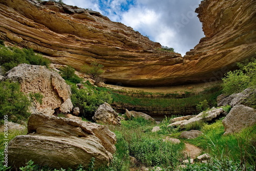
<instances>
[{"instance_id":1,"label":"bright green grass in the bottom right corner, right of the path","mask_svg":"<svg viewBox=\"0 0 256 171\"><path fill-rule=\"evenodd\" d=\"M256 125L244 129L234 135L223 136L222 119L213 124L205 124L201 131L203 135L186 140L204 149L212 159L208 164L194 164L188 168L209 168L208 170L254 170L256 165ZM228 165L229 163L229 165ZM240 167L240 168L239 168ZM253 168L254 167L254 168ZM229 168L229 169L228 169ZM207 170L207 169L202 169Z\"/></svg>"}]
</instances>

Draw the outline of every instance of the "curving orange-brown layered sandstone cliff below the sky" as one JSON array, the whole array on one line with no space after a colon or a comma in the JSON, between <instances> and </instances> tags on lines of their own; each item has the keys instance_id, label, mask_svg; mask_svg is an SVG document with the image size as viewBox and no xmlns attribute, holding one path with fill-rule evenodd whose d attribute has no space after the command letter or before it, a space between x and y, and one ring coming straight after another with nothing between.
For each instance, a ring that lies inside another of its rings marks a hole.
<instances>
[{"instance_id":1,"label":"curving orange-brown layered sandstone cliff below the sky","mask_svg":"<svg viewBox=\"0 0 256 171\"><path fill-rule=\"evenodd\" d=\"M234 63L255 56L253 0L202 1L196 12L205 37L182 56L158 50L131 27L98 12L53 2L0 0L0 39L33 48L76 69L97 61L106 81L163 86L214 81Z\"/></svg>"}]
</instances>

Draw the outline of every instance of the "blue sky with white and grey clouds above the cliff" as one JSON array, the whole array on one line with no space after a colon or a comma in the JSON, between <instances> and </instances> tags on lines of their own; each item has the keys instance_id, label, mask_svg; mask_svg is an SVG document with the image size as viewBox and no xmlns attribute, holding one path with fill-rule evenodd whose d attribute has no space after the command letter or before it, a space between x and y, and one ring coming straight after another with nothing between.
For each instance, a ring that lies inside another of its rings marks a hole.
<instances>
[{"instance_id":1,"label":"blue sky with white and grey clouds above the cliff","mask_svg":"<svg viewBox=\"0 0 256 171\"><path fill-rule=\"evenodd\" d=\"M204 37L195 9L201 0L63 0L90 8L113 22L132 27L182 56Z\"/></svg>"}]
</instances>

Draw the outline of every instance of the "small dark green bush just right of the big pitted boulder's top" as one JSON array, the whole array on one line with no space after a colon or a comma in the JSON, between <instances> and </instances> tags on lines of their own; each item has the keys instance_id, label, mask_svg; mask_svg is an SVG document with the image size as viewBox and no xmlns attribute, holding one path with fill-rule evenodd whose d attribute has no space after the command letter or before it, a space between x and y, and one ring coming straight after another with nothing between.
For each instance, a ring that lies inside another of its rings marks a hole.
<instances>
[{"instance_id":1,"label":"small dark green bush just right of the big pitted boulder's top","mask_svg":"<svg viewBox=\"0 0 256 171\"><path fill-rule=\"evenodd\" d=\"M61 71L61 77L65 80L73 83L80 83L82 81L82 78L75 74L75 69L71 67L60 67L59 70Z\"/></svg>"}]
</instances>

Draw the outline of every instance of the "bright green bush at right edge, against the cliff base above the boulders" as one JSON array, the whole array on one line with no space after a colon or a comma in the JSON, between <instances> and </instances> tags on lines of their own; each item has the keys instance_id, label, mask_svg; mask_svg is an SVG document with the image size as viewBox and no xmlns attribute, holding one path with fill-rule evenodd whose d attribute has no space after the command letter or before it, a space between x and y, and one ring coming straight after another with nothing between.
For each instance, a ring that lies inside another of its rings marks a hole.
<instances>
[{"instance_id":1,"label":"bright green bush at right edge, against the cliff base above the boulders","mask_svg":"<svg viewBox=\"0 0 256 171\"><path fill-rule=\"evenodd\" d=\"M239 64L240 70L229 71L223 80L225 94L239 93L248 87L256 86L256 59L247 65Z\"/></svg>"}]
</instances>

